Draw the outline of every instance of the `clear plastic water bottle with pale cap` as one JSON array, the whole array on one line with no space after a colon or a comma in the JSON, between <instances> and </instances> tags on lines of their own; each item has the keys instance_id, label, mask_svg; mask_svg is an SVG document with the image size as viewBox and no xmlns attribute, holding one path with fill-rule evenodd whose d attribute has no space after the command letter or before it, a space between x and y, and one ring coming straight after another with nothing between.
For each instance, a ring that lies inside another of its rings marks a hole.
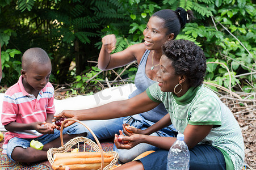
<instances>
[{"instance_id":1,"label":"clear plastic water bottle with pale cap","mask_svg":"<svg viewBox=\"0 0 256 170\"><path fill-rule=\"evenodd\" d=\"M177 135L177 141L173 143L168 152L166 169L190 169L190 151L184 142L184 135L181 133Z\"/></svg>"}]
</instances>

